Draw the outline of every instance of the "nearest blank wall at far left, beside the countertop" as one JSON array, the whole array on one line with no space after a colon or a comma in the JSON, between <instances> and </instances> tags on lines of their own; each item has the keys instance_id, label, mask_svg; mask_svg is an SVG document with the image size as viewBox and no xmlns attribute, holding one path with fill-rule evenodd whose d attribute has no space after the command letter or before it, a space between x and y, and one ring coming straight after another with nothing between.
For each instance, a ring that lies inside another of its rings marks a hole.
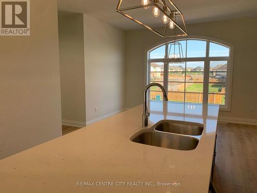
<instances>
[{"instance_id":1,"label":"nearest blank wall at far left, beside the countertop","mask_svg":"<svg viewBox=\"0 0 257 193\"><path fill-rule=\"evenodd\" d=\"M31 36L0 37L0 159L62 134L57 2L30 6Z\"/></svg>"}]
</instances>

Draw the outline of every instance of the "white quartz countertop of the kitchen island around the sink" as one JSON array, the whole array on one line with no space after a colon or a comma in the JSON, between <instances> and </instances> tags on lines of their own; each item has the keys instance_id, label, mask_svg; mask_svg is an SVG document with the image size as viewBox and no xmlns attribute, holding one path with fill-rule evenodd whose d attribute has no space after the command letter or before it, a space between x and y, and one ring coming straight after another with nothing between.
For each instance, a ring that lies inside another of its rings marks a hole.
<instances>
[{"instance_id":1,"label":"white quartz countertop of the kitchen island around the sink","mask_svg":"<svg viewBox=\"0 0 257 193\"><path fill-rule=\"evenodd\" d=\"M142 129L138 106L1 160L0 192L208 192L219 107L151 102L149 109L149 127L162 119L204 124L196 149L132 142Z\"/></svg>"}]
</instances>

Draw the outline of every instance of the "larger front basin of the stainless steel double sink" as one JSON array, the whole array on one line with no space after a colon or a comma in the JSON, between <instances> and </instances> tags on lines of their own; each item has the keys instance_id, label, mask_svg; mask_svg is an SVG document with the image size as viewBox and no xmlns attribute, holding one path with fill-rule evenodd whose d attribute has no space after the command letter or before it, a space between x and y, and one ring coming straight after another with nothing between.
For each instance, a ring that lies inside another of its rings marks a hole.
<instances>
[{"instance_id":1,"label":"larger front basin of the stainless steel double sink","mask_svg":"<svg viewBox=\"0 0 257 193\"><path fill-rule=\"evenodd\" d=\"M185 151L195 149L199 143L199 140L195 137L156 131L143 131L135 134L134 137L132 136L131 141L139 144Z\"/></svg>"}]
</instances>

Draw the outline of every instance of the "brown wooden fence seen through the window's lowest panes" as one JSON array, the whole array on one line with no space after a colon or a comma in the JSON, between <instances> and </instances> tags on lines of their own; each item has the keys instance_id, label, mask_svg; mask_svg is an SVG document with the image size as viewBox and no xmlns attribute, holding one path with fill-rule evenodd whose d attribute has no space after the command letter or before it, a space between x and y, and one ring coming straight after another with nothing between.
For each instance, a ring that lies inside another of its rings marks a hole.
<instances>
[{"instance_id":1,"label":"brown wooden fence seen through the window's lowest panes","mask_svg":"<svg viewBox=\"0 0 257 193\"><path fill-rule=\"evenodd\" d=\"M171 101L178 101L183 102L184 101L185 93L183 92L168 92L168 98ZM209 94L209 103L213 104L222 104L223 101L222 94ZM151 91L150 92L150 99L151 100L162 100L163 95L161 91ZM203 102L203 93L186 93L186 102Z\"/></svg>"}]
</instances>

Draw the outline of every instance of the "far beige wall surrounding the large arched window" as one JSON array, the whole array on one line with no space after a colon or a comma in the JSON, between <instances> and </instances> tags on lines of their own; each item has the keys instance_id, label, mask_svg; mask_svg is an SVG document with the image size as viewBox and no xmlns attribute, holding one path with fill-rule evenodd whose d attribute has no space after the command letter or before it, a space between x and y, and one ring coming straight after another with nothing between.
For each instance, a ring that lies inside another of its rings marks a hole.
<instances>
[{"instance_id":1,"label":"far beige wall surrounding the large arched window","mask_svg":"<svg viewBox=\"0 0 257 193\"><path fill-rule=\"evenodd\" d=\"M257 119L257 19L188 25L190 35L217 38L230 42L234 49L232 103L230 112L220 116ZM126 31L125 79L126 108L142 103L144 89L144 54L146 48L163 38L149 30ZM251 113L250 108L254 111Z\"/></svg>"}]
</instances>

